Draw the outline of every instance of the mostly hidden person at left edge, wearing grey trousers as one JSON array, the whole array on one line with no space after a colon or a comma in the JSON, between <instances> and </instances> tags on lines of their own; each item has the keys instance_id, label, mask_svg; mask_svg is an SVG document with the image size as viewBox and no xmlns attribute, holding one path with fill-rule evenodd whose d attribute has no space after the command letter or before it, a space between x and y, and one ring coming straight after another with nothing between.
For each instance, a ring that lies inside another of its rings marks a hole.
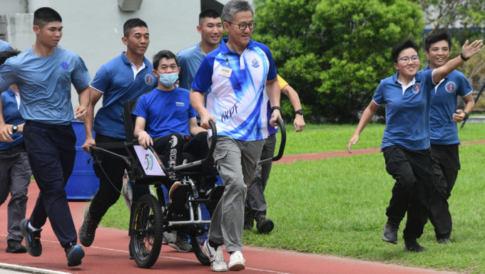
<instances>
[{"instance_id":1,"label":"mostly hidden person at left edge, wearing grey trousers","mask_svg":"<svg viewBox=\"0 0 485 274\"><path fill-rule=\"evenodd\" d=\"M20 51L0 51L0 65L6 59L20 54ZM7 253L26 253L22 240L24 235L20 230L20 221L25 218L27 209L27 192L31 181L32 171L29 158L25 150L24 131L25 120L20 115L19 88L13 84L1 93L0 116L3 115L7 126L11 126L13 141L10 143L0 141L0 205L11 194L7 208L6 235Z\"/></svg>"}]
</instances>

